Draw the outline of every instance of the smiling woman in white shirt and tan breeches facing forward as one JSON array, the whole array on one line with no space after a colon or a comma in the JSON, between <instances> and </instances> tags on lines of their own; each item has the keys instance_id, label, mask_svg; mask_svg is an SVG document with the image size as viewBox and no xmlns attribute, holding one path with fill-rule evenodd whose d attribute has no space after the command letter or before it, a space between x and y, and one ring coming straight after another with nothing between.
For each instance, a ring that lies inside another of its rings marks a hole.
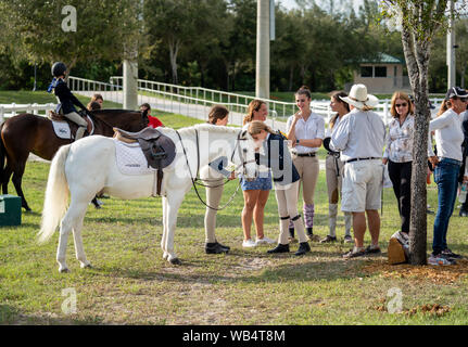
<instances>
[{"instance_id":1,"label":"smiling woman in white shirt and tan breeches facing forward","mask_svg":"<svg viewBox=\"0 0 468 347\"><path fill-rule=\"evenodd\" d=\"M318 179L319 163L316 153L325 138L325 120L311 111L311 90L303 86L295 93L299 111L288 118L286 131L292 142L292 158L301 176L304 223L311 241L319 241L314 235L314 193ZM291 237L294 227L290 224Z\"/></svg>"}]
</instances>

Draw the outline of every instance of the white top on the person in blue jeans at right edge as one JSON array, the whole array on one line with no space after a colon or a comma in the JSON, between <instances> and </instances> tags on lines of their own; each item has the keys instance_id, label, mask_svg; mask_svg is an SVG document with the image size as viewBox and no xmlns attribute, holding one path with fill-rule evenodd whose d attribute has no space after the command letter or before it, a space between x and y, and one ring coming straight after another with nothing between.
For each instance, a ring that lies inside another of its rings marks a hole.
<instances>
[{"instance_id":1,"label":"white top on the person in blue jeans at right edge","mask_svg":"<svg viewBox=\"0 0 468 347\"><path fill-rule=\"evenodd\" d=\"M431 131L435 130L438 156L458 162L463 160L461 143L465 140L465 136L461 128L461 115L458 115L455 111L448 108L442 115L429 123L429 156L434 156L434 152L432 151Z\"/></svg>"}]
</instances>

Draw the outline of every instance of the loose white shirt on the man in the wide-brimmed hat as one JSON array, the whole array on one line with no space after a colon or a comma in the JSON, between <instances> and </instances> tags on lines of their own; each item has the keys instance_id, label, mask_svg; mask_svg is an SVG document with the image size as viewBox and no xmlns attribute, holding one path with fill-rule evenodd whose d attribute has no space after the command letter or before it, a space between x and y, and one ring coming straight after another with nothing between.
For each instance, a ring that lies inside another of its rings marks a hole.
<instances>
[{"instance_id":1,"label":"loose white shirt on the man in the wide-brimmed hat","mask_svg":"<svg viewBox=\"0 0 468 347\"><path fill-rule=\"evenodd\" d=\"M353 108L333 127L330 147L341 152L341 160L382 157L385 125L371 111Z\"/></svg>"}]
</instances>

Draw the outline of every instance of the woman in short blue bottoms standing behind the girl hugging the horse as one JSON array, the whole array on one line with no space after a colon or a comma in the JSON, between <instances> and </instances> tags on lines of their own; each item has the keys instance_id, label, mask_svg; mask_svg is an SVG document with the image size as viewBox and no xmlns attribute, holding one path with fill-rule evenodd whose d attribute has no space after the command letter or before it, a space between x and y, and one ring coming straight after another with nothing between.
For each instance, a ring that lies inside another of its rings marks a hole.
<instances>
[{"instance_id":1,"label":"woman in short blue bottoms standing behind the girl hugging the horse","mask_svg":"<svg viewBox=\"0 0 468 347\"><path fill-rule=\"evenodd\" d=\"M243 119L243 129L246 130L251 121L265 121L267 114L268 107L265 102L252 100L249 104L248 114ZM242 209L243 247L255 247L261 244L275 243L274 240L266 237L264 233L264 214L269 191L271 190L271 172L267 167L262 165L258 171L258 177L253 181L249 182L241 178L244 198ZM256 231L255 242L251 237L252 219Z\"/></svg>"}]
</instances>

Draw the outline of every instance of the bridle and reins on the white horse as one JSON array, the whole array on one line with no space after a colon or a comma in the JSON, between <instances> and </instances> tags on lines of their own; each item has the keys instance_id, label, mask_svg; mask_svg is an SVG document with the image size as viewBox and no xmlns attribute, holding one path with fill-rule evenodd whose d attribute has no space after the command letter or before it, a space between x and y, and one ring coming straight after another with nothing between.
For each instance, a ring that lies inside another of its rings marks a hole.
<instances>
[{"instance_id":1,"label":"bridle and reins on the white horse","mask_svg":"<svg viewBox=\"0 0 468 347\"><path fill-rule=\"evenodd\" d=\"M192 187L193 187L193 189L194 189L194 191L195 191L195 193L197 193L197 196L199 197L199 200L203 203L203 205L205 205L206 207L208 207L208 208L211 208L211 209L214 209L214 210L222 210L222 209L225 209L231 202L232 202L232 200L235 198L235 196L236 196L236 194L237 194L237 192L239 191L239 188L240 188L240 180L239 180L239 183L238 183L238 187L237 187L237 189L236 189L236 191L233 192L233 194L230 196L230 198L229 198L229 201L225 204L225 205L223 205L223 207L213 207L213 206L210 206L210 205L207 205L204 201L203 201L203 198L200 196L200 193L199 193L199 191L198 191L198 189L197 189L197 185L200 185L200 187L205 187L205 188L217 188L217 187L222 187L222 185L225 185L226 183L228 183L230 180L229 179L226 179L226 181L224 181L223 183L220 183L220 184L217 184L217 185L211 185L211 184L203 184L203 183L200 183L199 181L203 181L203 182L218 182L219 180L218 179L214 179L214 180L208 180L208 179L200 179L199 178L199 172L200 172L200 144L199 144L199 131L197 130L197 129L194 129L195 130L195 139L197 139L197 175L195 176L193 176L192 175L192 170L191 170L191 168L190 168L190 164L189 164L189 158L188 158L188 156L187 156L187 151L186 151L186 147L185 147L185 145L184 145L184 141L182 141L182 138L180 137L180 133L179 133L179 131L177 131L176 130L176 133L177 133L177 136L178 136L178 138L179 138L179 140L180 140L180 144L182 145L182 151L184 151L184 155L185 155L185 157L186 157L186 164L187 164L187 167L188 167L188 169L189 169L189 174L190 174L190 180L192 181ZM230 156L230 162L231 163L233 163L233 158L235 158L235 155L236 155L236 152L238 152L238 154L239 154L239 158L241 159L241 164L239 164L236 168L235 168L235 170L233 171L237 171L237 169L239 168L239 167L242 167L243 168L243 171L242 171L242 174L243 175L245 175L245 172L246 172L246 165L248 164L251 164L251 163L254 163L255 162L255 159L252 159L252 160L245 160L244 159L244 157L242 156L242 154L241 154L241 151L237 151L237 149L239 147L239 150L240 150L240 141L246 141L246 139L242 139L241 138L241 133L242 133L242 130L241 131L239 131L239 133L237 134L237 139L236 139L236 145L235 145L235 147L233 147L233 150L232 150L232 154L231 154L231 156ZM245 154L246 153L246 149L243 149L242 150L242 152Z\"/></svg>"}]
</instances>

